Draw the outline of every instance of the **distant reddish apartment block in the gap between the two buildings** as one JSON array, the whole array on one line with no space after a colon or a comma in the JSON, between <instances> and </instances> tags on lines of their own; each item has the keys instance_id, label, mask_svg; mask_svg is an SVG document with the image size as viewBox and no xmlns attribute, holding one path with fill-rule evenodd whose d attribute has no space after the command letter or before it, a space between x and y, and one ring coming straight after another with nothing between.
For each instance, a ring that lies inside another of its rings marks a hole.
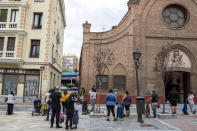
<instances>
[{"instance_id":1,"label":"distant reddish apartment block in the gap between the two buildings","mask_svg":"<svg viewBox=\"0 0 197 131\"><path fill-rule=\"evenodd\" d=\"M68 69L75 72L78 70L78 61L77 56L63 56L62 69Z\"/></svg>"}]
</instances>

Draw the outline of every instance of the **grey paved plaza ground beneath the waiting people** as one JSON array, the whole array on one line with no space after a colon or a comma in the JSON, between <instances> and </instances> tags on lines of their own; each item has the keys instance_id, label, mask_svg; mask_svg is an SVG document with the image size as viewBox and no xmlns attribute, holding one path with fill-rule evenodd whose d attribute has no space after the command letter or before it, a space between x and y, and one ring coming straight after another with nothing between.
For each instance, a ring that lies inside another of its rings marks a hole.
<instances>
[{"instance_id":1,"label":"grey paved plaza ground beneath the waiting people","mask_svg":"<svg viewBox=\"0 0 197 131\"><path fill-rule=\"evenodd\" d=\"M180 107L182 105L179 105ZM178 106L178 107L179 107ZM45 116L31 116L31 105L16 106L15 113L12 116L5 114L5 105L0 106L0 131L64 131L65 125L62 123L62 129L49 128L50 123L44 121ZM81 106L77 108L81 110ZM101 107L105 110L105 106ZM144 123L138 123L135 113L135 106L131 108L130 118L118 119L118 121L106 121L106 117L92 117L81 115L77 131L197 131L197 115L184 116L180 112L175 118L159 119L144 118ZM169 108L167 107L167 110ZM159 110L160 111L160 110ZM158 111L158 112L159 112ZM179 111L179 109L178 109ZM106 113L104 111L104 113Z\"/></svg>"}]
</instances>

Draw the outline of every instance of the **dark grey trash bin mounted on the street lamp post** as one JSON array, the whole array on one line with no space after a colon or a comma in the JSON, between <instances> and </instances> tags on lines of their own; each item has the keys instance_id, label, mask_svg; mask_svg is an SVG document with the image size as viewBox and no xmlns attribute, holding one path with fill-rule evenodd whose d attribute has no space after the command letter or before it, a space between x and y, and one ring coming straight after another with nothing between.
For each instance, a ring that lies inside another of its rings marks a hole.
<instances>
[{"instance_id":1,"label":"dark grey trash bin mounted on the street lamp post","mask_svg":"<svg viewBox=\"0 0 197 131\"><path fill-rule=\"evenodd\" d=\"M145 112L145 98L142 96L136 97L136 107L138 114L144 114Z\"/></svg>"}]
</instances>

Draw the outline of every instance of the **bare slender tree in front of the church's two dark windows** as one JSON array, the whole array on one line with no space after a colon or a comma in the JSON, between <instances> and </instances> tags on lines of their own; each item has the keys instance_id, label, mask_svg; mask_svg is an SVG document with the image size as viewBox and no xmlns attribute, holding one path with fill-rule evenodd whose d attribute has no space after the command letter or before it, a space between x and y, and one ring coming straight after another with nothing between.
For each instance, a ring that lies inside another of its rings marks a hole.
<instances>
[{"instance_id":1,"label":"bare slender tree in front of the church's two dark windows","mask_svg":"<svg viewBox=\"0 0 197 131\"><path fill-rule=\"evenodd\" d=\"M97 99L97 108L96 111L100 113L100 93L102 87L102 75L104 75L107 66L111 65L113 58L113 52L110 49L102 49L101 45L94 56L94 63L96 67L96 72L99 76L99 87L98 87L98 99Z\"/></svg>"}]
</instances>

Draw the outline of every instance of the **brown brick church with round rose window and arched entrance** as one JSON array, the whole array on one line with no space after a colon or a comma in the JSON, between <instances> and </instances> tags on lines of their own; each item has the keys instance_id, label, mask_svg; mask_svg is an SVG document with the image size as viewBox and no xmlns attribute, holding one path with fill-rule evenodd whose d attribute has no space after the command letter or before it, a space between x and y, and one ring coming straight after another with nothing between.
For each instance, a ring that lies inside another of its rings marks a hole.
<instances>
[{"instance_id":1,"label":"brown brick church with round rose window and arched entrance","mask_svg":"<svg viewBox=\"0 0 197 131\"><path fill-rule=\"evenodd\" d=\"M188 92L197 93L197 0L129 0L128 12L119 24L105 32L91 32L83 24L83 46L80 60L80 87L93 86L106 94L128 90L137 94L133 52L139 49L141 95L152 89L162 96L176 87L183 103ZM93 24L93 23L92 23ZM155 57L162 47L170 46L168 68L173 77L162 82L155 70ZM101 83L100 83L101 81Z\"/></svg>"}]
</instances>

